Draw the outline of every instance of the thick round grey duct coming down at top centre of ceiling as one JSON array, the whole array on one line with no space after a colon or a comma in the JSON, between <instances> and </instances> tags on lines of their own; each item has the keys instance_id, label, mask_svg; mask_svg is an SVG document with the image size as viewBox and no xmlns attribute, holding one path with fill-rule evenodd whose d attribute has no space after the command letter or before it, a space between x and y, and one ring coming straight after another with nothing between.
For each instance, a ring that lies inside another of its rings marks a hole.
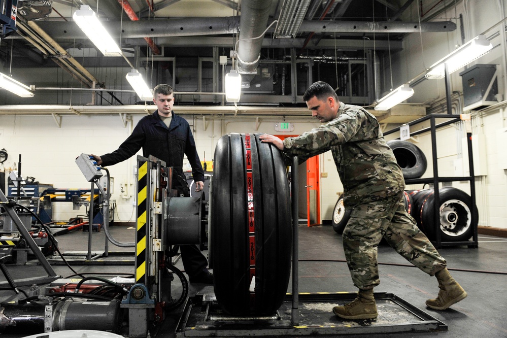
<instances>
[{"instance_id":1,"label":"thick round grey duct coming down at top centre of ceiling","mask_svg":"<svg viewBox=\"0 0 507 338\"><path fill-rule=\"evenodd\" d=\"M272 0L244 0L241 4L240 36L238 39L238 72L256 74L262 37L267 27ZM259 39L254 39L257 37Z\"/></svg>"}]
</instances>

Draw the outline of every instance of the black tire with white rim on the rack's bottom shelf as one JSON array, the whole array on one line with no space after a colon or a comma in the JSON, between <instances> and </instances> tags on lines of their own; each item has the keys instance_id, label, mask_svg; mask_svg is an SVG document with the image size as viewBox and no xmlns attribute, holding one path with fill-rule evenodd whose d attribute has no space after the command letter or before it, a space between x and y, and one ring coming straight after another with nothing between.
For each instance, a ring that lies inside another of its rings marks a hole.
<instances>
[{"instance_id":1,"label":"black tire with white rim on the rack's bottom shelf","mask_svg":"<svg viewBox=\"0 0 507 338\"><path fill-rule=\"evenodd\" d=\"M440 226L434 226L434 194L421 209L421 225L431 241L436 240L436 231L440 231L441 242L467 241L479 222L479 211L474 206L474 219L471 217L471 198L457 188L444 187L438 190L440 199Z\"/></svg>"}]
</instances>

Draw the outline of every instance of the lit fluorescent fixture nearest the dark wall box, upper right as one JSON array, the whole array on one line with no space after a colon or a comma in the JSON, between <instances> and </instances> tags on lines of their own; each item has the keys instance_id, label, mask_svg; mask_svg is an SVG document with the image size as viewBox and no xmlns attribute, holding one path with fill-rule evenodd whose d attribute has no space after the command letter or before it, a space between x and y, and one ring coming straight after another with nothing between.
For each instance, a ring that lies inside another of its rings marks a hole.
<instances>
[{"instance_id":1,"label":"lit fluorescent fixture nearest the dark wall box, upper right","mask_svg":"<svg viewBox=\"0 0 507 338\"><path fill-rule=\"evenodd\" d=\"M445 63L447 63L449 74L451 74L468 63L477 60L491 49L493 49L491 41L489 41L485 35L479 35L451 52L440 61L434 63L430 67L430 71L426 73L426 78L443 79L445 77Z\"/></svg>"}]
</instances>

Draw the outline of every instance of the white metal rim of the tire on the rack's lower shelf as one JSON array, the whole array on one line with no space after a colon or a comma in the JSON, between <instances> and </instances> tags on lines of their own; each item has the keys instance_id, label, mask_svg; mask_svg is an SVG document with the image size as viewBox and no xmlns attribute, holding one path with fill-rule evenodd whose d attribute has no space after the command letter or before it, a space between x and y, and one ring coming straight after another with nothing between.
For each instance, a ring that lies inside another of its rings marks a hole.
<instances>
[{"instance_id":1,"label":"white metal rim of the tire on the rack's lower shelf","mask_svg":"<svg viewBox=\"0 0 507 338\"><path fill-rule=\"evenodd\" d=\"M470 227L471 212L461 200L450 199L440 207L440 229L449 236L459 236Z\"/></svg>"}]
</instances>

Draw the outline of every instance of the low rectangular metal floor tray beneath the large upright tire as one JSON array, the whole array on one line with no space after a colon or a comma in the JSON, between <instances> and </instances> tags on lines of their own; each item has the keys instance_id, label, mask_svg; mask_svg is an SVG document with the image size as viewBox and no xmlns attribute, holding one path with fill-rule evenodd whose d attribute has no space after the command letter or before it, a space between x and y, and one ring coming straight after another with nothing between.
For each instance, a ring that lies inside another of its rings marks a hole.
<instances>
[{"instance_id":1,"label":"low rectangular metal floor tray beneath the large upright tire","mask_svg":"<svg viewBox=\"0 0 507 338\"><path fill-rule=\"evenodd\" d=\"M187 299L176 327L177 338L238 336L327 336L386 334L398 332L447 331L447 325L394 294L376 292L376 319L344 320L331 309L353 300L357 293L301 293L299 320L291 321L292 295L287 294L273 318L229 317L222 312L214 294Z\"/></svg>"}]
</instances>

